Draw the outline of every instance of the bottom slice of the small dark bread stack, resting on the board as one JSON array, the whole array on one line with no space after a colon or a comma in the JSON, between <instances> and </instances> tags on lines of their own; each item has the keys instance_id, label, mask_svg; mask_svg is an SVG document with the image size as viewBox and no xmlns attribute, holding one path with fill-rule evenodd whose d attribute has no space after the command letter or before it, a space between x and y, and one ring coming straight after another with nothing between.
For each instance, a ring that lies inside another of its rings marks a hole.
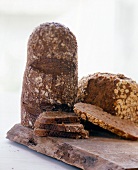
<instances>
[{"instance_id":1,"label":"bottom slice of the small dark bread stack, resting on the board","mask_svg":"<svg viewBox=\"0 0 138 170\"><path fill-rule=\"evenodd\" d=\"M73 139L87 139L89 138L89 132L87 130L82 130L80 133L74 132L62 132L62 131L48 131L46 129L35 128L34 135L39 137L64 137Z\"/></svg>"}]
</instances>

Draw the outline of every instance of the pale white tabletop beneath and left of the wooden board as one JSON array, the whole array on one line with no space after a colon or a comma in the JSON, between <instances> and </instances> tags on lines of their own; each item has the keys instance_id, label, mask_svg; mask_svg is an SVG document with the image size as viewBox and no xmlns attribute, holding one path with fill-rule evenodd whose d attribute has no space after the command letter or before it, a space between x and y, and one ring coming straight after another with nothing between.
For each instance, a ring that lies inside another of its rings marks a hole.
<instances>
[{"instance_id":1,"label":"pale white tabletop beneath and left of the wooden board","mask_svg":"<svg viewBox=\"0 0 138 170\"><path fill-rule=\"evenodd\" d=\"M20 94L0 93L0 170L77 170L6 139L7 131L20 122Z\"/></svg>"}]
</instances>

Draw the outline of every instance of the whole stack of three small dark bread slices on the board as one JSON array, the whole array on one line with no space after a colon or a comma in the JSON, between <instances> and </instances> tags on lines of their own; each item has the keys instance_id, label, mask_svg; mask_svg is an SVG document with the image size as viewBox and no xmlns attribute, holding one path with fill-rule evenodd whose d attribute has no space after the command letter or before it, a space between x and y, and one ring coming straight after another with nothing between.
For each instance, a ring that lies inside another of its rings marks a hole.
<instances>
[{"instance_id":1,"label":"whole stack of three small dark bread slices on the board","mask_svg":"<svg viewBox=\"0 0 138 170\"><path fill-rule=\"evenodd\" d=\"M89 132L73 112L47 111L39 115L34 124L34 135L85 139Z\"/></svg>"}]
</instances>

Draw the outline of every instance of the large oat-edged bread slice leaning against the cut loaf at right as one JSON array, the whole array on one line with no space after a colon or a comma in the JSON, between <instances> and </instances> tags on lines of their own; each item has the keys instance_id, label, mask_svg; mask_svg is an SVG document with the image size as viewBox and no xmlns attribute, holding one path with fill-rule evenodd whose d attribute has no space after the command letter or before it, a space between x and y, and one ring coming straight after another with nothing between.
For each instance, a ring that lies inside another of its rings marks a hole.
<instances>
[{"instance_id":1,"label":"large oat-edged bread slice leaning against the cut loaf at right","mask_svg":"<svg viewBox=\"0 0 138 170\"><path fill-rule=\"evenodd\" d=\"M76 103L74 112L84 120L107 129L123 138L138 140L138 127L129 120L111 115L98 106Z\"/></svg>"}]
</instances>

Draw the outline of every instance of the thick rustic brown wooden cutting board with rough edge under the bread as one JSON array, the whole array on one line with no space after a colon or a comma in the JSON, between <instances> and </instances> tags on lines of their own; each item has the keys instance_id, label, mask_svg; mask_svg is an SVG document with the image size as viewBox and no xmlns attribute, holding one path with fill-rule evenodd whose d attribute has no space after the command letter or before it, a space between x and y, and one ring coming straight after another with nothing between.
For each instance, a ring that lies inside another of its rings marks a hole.
<instances>
[{"instance_id":1,"label":"thick rustic brown wooden cutting board with rough edge under the bread","mask_svg":"<svg viewBox=\"0 0 138 170\"><path fill-rule=\"evenodd\" d=\"M138 141L119 139L110 133L93 133L89 139L36 137L32 129L16 124L7 138L85 170L138 169Z\"/></svg>"}]
</instances>

